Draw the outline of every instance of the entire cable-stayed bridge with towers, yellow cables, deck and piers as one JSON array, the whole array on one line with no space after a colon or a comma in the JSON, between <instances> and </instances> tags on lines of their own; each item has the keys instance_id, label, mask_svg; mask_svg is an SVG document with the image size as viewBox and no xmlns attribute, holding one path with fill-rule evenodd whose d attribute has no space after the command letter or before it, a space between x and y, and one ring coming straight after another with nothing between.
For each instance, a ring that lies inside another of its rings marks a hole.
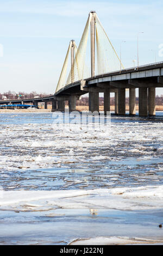
<instances>
[{"instance_id":1,"label":"entire cable-stayed bridge with towers, yellow cables, deck and piers","mask_svg":"<svg viewBox=\"0 0 163 256\"><path fill-rule=\"evenodd\" d=\"M90 40L89 40L90 35ZM90 41L90 47L88 42ZM89 50L89 49L90 50ZM70 68L68 68L70 63ZM129 113L135 114L135 89L139 88L139 115L155 115L155 88L163 87L163 62L125 69L95 11L90 11L82 39L77 47L70 41L55 93L51 97L25 99L24 103L52 101L52 109L76 109L76 100L89 93L89 110L99 111L99 93L104 93L104 112L110 111L110 93L115 93L115 113L126 114L126 90ZM22 100L12 100L20 103ZM9 103L9 101L0 101Z\"/></svg>"}]
</instances>

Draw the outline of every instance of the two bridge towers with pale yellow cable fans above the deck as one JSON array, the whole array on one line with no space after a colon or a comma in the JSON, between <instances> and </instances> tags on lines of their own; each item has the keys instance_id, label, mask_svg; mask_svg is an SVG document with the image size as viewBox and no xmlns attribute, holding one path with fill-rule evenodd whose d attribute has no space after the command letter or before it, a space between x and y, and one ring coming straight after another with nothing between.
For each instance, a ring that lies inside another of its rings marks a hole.
<instances>
[{"instance_id":1,"label":"two bridge towers with pale yellow cable fans above the deck","mask_svg":"<svg viewBox=\"0 0 163 256\"><path fill-rule=\"evenodd\" d=\"M87 69L85 64L86 50L87 50L87 40L89 36L89 28L91 35L91 70ZM95 44L96 38L96 44ZM97 46L95 50L95 45ZM68 56L71 51L71 69L67 75L67 64ZM97 52L97 71L95 71L95 56ZM75 56L74 56L75 53ZM104 31L104 28L101 22L98 19L98 16L95 11L89 13L82 39L80 40L79 47L77 48L74 40L70 41L70 45L67 50L66 58L62 71L59 77L57 89L55 92L58 92L60 89L64 88L68 84L73 82L83 80L87 77L93 77L96 74L104 74L105 72L116 71L119 69L121 60L118 57L114 47L112 46L108 35ZM121 64L122 68L123 65ZM90 74L91 73L91 74Z\"/></svg>"}]
</instances>

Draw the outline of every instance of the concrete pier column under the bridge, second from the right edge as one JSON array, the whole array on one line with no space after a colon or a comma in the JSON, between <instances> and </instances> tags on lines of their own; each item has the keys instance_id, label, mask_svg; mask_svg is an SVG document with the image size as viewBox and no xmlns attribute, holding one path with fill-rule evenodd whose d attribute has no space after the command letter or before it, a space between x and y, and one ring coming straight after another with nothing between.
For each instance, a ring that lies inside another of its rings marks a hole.
<instances>
[{"instance_id":1,"label":"concrete pier column under the bridge, second from the right edge","mask_svg":"<svg viewBox=\"0 0 163 256\"><path fill-rule=\"evenodd\" d=\"M148 88L139 88L139 115L148 116Z\"/></svg>"}]
</instances>

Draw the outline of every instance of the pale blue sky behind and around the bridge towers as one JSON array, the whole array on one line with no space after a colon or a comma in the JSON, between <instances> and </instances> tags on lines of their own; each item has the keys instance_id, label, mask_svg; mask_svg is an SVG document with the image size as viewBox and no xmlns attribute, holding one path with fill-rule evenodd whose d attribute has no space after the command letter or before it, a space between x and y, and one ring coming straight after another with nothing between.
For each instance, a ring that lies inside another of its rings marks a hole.
<instances>
[{"instance_id":1,"label":"pale blue sky behind and around the bridge towers","mask_svg":"<svg viewBox=\"0 0 163 256\"><path fill-rule=\"evenodd\" d=\"M162 1L55 1L0 0L0 92L14 90L54 93L71 39L79 44L90 10L120 52L122 62L133 66L140 34L140 65L162 61ZM153 51L152 51L153 50ZM163 94L163 89L157 89Z\"/></svg>"}]
</instances>

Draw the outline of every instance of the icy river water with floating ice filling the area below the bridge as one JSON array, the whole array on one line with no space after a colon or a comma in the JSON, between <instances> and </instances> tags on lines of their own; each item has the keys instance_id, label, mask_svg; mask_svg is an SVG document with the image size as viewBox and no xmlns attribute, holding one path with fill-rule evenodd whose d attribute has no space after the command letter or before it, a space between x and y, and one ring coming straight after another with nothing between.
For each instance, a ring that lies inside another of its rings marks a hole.
<instances>
[{"instance_id":1,"label":"icy river water with floating ice filling the area below the bridge","mask_svg":"<svg viewBox=\"0 0 163 256\"><path fill-rule=\"evenodd\" d=\"M0 121L0 244L162 243L162 112L93 129L53 113Z\"/></svg>"}]
</instances>

